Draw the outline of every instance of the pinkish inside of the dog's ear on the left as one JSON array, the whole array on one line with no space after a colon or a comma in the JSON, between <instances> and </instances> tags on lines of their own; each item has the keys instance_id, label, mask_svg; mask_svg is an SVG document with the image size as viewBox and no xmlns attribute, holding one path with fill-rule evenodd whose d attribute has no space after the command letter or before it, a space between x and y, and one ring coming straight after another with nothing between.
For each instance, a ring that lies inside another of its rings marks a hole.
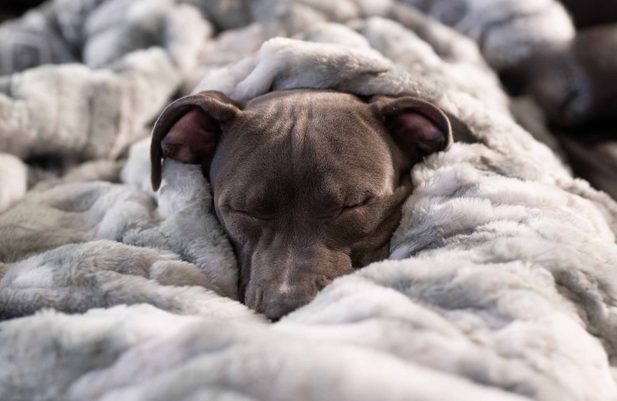
<instances>
[{"instance_id":1,"label":"pinkish inside of the dog's ear on the left","mask_svg":"<svg viewBox=\"0 0 617 401\"><path fill-rule=\"evenodd\" d=\"M161 141L164 157L188 164L201 163L217 146L216 122L201 109L184 114Z\"/></svg>"}]
</instances>

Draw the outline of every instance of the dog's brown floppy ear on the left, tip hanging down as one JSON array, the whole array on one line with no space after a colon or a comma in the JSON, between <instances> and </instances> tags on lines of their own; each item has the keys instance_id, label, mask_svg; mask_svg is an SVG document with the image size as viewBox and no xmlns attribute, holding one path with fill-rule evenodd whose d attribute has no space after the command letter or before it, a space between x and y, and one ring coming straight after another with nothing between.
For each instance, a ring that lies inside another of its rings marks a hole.
<instances>
[{"instance_id":1,"label":"dog's brown floppy ear on the left, tip hanging down","mask_svg":"<svg viewBox=\"0 0 617 401\"><path fill-rule=\"evenodd\" d=\"M221 125L235 118L241 102L217 91L185 96L157 119L150 144L152 189L159 189L161 158L201 164L207 170L221 136Z\"/></svg>"}]
</instances>

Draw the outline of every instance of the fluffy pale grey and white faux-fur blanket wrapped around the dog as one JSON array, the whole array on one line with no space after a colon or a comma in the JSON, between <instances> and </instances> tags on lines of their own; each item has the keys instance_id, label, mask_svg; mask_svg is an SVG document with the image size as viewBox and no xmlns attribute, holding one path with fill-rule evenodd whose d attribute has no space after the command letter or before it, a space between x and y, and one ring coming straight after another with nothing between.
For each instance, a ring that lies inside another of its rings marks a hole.
<instances>
[{"instance_id":1,"label":"fluffy pale grey and white faux-fur blanket wrapped around the dog","mask_svg":"<svg viewBox=\"0 0 617 401\"><path fill-rule=\"evenodd\" d=\"M53 0L0 25L0 399L616 399L617 204L495 72L572 35L553 0ZM150 188L147 134L181 94L291 88L419 96L458 142L413 168L389 260L270 323L234 300L199 167Z\"/></svg>"}]
</instances>

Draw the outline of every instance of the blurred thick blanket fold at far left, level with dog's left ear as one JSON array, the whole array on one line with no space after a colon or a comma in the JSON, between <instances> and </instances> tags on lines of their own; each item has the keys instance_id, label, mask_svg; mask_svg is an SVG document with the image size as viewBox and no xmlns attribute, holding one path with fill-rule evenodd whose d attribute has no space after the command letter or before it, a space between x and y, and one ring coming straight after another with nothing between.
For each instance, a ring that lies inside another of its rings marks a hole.
<instances>
[{"instance_id":1,"label":"blurred thick blanket fold at far left, level with dog's left ear","mask_svg":"<svg viewBox=\"0 0 617 401\"><path fill-rule=\"evenodd\" d=\"M35 155L115 158L143 137L180 83L160 48L127 54L106 70L43 65L0 78L0 149Z\"/></svg>"}]
</instances>

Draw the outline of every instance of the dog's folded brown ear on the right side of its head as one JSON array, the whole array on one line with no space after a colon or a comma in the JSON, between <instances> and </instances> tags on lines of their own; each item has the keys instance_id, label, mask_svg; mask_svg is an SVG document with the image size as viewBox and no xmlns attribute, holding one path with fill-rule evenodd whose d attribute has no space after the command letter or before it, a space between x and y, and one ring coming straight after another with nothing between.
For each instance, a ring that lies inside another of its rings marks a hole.
<instances>
[{"instance_id":1,"label":"dog's folded brown ear on the right side of its head","mask_svg":"<svg viewBox=\"0 0 617 401\"><path fill-rule=\"evenodd\" d=\"M436 105L412 96L379 96L374 102L386 130L414 159L452 144L450 120Z\"/></svg>"}]
</instances>

